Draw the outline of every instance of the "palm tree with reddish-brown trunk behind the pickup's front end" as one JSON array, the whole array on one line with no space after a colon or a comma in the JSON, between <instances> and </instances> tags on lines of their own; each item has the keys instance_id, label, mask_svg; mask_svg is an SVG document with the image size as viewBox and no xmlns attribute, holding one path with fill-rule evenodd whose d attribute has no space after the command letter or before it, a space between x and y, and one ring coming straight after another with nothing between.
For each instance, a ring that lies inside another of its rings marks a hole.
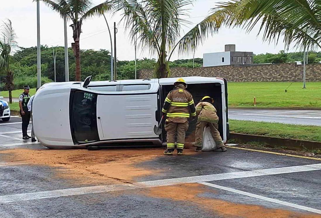
<instances>
[{"instance_id":1,"label":"palm tree with reddish-brown trunk behind the pickup's front end","mask_svg":"<svg viewBox=\"0 0 321 218\"><path fill-rule=\"evenodd\" d=\"M36 0L34 0L36 1ZM72 21L70 25L73 28L74 43L72 47L76 58L76 81L81 81L80 69L80 47L79 40L82 33L82 22L92 18L93 16L100 16L112 9L112 4L105 1L99 5L92 7L91 0L41 0L52 10L58 12L62 18Z\"/></svg>"}]
</instances>

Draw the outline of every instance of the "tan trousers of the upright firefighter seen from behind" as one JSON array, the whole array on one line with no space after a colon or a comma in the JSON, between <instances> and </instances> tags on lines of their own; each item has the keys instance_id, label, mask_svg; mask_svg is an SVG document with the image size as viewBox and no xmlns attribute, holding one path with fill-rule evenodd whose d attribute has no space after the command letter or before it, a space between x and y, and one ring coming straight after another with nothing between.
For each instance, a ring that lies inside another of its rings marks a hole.
<instances>
[{"instance_id":1,"label":"tan trousers of the upright firefighter seen from behind","mask_svg":"<svg viewBox=\"0 0 321 218\"><path fill-rule=\"evenodd\" d=\"M185 143L185 133L188 129L188 122L175 123L166 121L167 149L175 148L175 136L177 134L176 148L183 149Z\"/></svg>"}]
</instances>

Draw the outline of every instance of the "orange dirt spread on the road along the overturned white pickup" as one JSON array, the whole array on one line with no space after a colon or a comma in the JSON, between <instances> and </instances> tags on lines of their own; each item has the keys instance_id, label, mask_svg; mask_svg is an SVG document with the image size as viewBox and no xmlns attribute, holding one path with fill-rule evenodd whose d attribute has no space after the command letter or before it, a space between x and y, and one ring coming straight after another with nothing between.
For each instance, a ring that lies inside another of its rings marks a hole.
<instances>
[{"instance_id":1,"label":"orange dirt spread on the road along the overturned white pickup","mask_svg":"<svg viewBox=\"0 0 321 218\"><path fill-rule=\"evenodd\" d=\"M8 162L42 164L57 167L56 177L73 179L77 183L133 182L135 177L159 173L157 169L136 164L163 156L160 148L104 149L10 149L1 151ZM185 150L185 154L194 153Z\"/></svg>"}]
</instances>

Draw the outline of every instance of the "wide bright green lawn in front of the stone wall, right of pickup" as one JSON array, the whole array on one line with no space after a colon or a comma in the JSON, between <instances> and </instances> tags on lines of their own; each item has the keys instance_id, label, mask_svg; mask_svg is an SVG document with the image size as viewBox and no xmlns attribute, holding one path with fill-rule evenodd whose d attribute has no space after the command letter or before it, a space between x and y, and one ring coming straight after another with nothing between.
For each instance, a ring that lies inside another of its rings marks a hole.
<instances>
[{"instance_id":1,"label":"wide bright green lawn in front of the stone wall, right of pickup","mask_svg":"<svg viewBox=\"0 0 321 218\"><path fill-rule=\"evenodd\" d=\"M254 107L319 107L321 108L321 82L229 82L229 106Z\"/></svg>"}]
</instances>

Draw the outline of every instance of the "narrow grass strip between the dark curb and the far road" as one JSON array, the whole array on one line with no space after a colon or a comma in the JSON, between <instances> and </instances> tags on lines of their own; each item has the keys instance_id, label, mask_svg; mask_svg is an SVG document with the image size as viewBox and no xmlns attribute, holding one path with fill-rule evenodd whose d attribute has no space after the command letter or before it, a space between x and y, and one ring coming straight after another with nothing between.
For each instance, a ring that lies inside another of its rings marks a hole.
<instances>
[{"instance_id":1,"label":"narrow grass strip between the dark curb and the far road","mask_svg":"<svg viewBox=\"0 0 321 218\"><path fill-rule=\"evenodd\" d=\"M321 142L321 126L229 120L230 132Z\"/></svg>"}]
</instances>

